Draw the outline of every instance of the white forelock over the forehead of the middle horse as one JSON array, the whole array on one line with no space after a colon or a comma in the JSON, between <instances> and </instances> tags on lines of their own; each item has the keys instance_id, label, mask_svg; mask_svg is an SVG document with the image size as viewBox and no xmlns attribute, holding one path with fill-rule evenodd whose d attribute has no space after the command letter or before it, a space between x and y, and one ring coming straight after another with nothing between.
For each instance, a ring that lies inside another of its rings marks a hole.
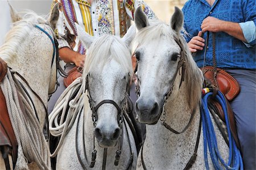
<instances>
[{"instance_id":1,"label":"white forelock over the forehead of the middle horse","mask_svg":"<svg viewBox=\"0 0 256 170\"><path fill-rule=\"evenodd\" d=\"M122 42L121 38L113 35L102 35L94 40L88 51L85 59L85 74L93 71L98 65L102 68L114 59L121 65L121 68L126 73L132 73L131 52L129 48Z\"/></svg>"}]
</instances>

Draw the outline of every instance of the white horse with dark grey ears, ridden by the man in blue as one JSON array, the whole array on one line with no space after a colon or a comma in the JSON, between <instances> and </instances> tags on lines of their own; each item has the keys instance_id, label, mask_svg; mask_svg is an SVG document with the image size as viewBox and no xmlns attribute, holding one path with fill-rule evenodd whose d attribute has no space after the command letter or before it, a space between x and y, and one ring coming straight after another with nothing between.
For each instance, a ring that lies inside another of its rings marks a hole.
<instances>
[{"instance_id":1,"label":"white horse with dark grey ears, ridden by the man in blue","mask_svg":"<svg viewBox=\"0 0 256 170\"><path fill-rule=\"evenodd\" d=\"M137 168L184 169L193 155L199 131L203 74L180 34L183 14L176 7L168 26L158 20L148 20L139 8L135 11L135 24L139 30L134 51L140 94L135 110L139 122L148 124ZM175 134L162 123L184 132ZM228 146L220 131L217 128L215 131L220 153L227 160ZM203 132L197 155L192 169L204 169ZM213 169L212 162L209 163Z\"/></svg>"}]
</instances>

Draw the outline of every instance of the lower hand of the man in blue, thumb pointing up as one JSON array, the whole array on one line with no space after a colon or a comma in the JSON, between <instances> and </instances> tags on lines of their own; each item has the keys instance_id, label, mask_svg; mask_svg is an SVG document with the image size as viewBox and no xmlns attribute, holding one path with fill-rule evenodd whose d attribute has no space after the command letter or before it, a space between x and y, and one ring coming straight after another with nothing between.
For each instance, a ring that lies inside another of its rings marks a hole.
<instances>
[{"instance_id":1,"label":"lower hand of the man in blue, thumb pointing up","mask_svg":"<svg viewBox=\"0 0 256 170\"><path fill-rule=\"evenodd\" d=\"M191 52L197 52L197 50L203 50L205 40L201 38L202 31L199 31L197 36L194 36L190 42L188 42L188 47Z\"/></svg>"}]
</instances>

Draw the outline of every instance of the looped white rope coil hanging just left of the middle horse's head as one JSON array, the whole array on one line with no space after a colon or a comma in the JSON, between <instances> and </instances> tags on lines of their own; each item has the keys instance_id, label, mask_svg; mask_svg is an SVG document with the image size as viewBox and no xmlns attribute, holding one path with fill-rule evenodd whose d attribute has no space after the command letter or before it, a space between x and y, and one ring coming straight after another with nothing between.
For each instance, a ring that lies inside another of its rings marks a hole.
<instances>
[{"instance_id":1,"label":"looped white rope coil hanging just left of the middle horse's head","mask_svg":"<svg viewBox=\"0 0 256 170\"><path fill-rule=\"evenodd\" d=\"M76 93L76 97L72 95ZM56 150L51 154L55 157L63 144L65 135L73 126L77 114L84 108L84 85L81 83L81 77L77 78L68 86L57 100L51 114L49 114L49 131L53 136L61 136ZM71 99L73 98L73 99ZM68 109L69 106L69 109ZM68 109L68 110L67 110ZM60 117L59 121L58 118Z\"/></svg>"}]
</instances>

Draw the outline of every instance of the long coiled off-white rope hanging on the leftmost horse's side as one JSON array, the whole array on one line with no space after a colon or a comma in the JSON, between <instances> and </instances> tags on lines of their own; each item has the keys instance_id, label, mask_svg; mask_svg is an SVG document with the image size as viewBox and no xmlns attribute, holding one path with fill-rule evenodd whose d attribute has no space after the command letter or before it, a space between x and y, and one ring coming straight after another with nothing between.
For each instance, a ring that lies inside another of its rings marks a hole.
<instances>
[{"instance_id":1,"label":"long coiled off-white rope hanging on the leftmost horse's side","mask_svg":"<svg viewBox=\"0 0 256 170\"><path fill-rule=\"evenodd\" d=\"M27 163L33 161L40 169L51 169L48 144L36 118L32 102L18 80L13 78L9 69L0 86L6 99L11 125L18 143L15 169L28 169ZM26 113L20 109L17 93L22 98Z\"/></svg>"}]
</instances>

